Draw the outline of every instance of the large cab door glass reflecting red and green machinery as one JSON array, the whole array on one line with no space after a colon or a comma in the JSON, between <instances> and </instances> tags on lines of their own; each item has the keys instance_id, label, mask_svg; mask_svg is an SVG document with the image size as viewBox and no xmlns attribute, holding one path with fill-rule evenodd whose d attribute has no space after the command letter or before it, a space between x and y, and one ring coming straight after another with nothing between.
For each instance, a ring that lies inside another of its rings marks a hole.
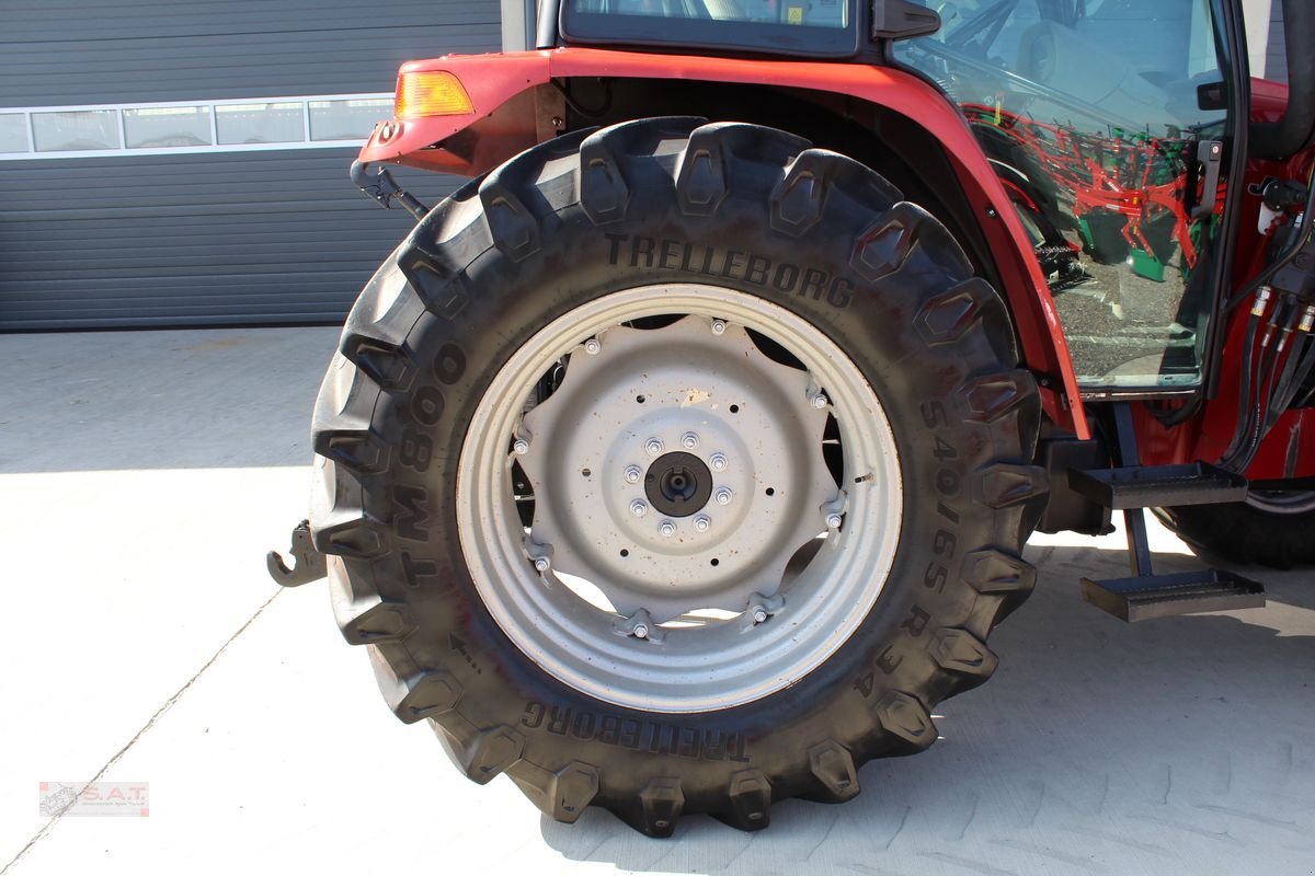
<instances>
[{"instance_id":1,"label":"large cab door glass reflecting red and green machinery","mask_svg":"<svg viewBox=\"0 0 1315 876\"><path fill-rule=\"evenodd\" d=\"M1210 0L931 5L940 32L897 58L968 117L1032 238L1078 381L1197 385L1223 213L1198 156L1223 167L1210 144L1228 123Z\"/></svg>"}]
</instances>

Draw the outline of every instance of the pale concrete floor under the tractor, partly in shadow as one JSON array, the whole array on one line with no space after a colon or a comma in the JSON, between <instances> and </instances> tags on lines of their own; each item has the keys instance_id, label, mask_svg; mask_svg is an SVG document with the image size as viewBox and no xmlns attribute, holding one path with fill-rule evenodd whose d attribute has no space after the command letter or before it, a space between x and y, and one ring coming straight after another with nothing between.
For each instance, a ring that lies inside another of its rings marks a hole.
<instances>
[{"instance_id":1,"label":"pale concrete floor under the tractor, partly in shadow","mask_svg":"<svg viewBox=\"0 0 1315 876\"><path fill-rule=\"evenodd\" d=\"M993 682L847 805L658 842L466 781L383 707L323 584L264 573L305 514L334 338L0 336L5 875L1315 872L1315 573L1128 626L1077 598L1122 573L1118 537L1034 541ZM1155 532L1164 570L1197 562ZM38 783L97 776L149 783L150 816L38 816Z\"/></svg>"}]
</instances>

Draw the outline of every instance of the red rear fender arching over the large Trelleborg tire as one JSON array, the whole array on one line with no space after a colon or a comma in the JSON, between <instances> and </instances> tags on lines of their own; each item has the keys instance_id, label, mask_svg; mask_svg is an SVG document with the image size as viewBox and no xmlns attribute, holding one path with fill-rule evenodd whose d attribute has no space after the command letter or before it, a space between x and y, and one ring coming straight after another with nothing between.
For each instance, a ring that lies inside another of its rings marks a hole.
<instances>
[{"instance_id":1,"label":"red rear fender arching over the large Trelleborg tire","mask_svg":"<svg viewBox=\"0 0 1315 876\"><path fill-rule=\"evenodd\" d=\"M598 49L554 49L506 55L454 55L404 64L401 72L443 71L460 79L475 112L404 118L376 126L360 152L367 163L392 162L472 176L554 135L537 87L554 79L682 79L802 88L871 101L909 117L944 147L982 231L1014 313L1024 364L1051 374L1041 387L1045 412L1065 431L1090 437L1073 362L1045 277L1009 194L959 109L927 83L888 67L801 60L743 60L651 55ZM435 144L439 148L433 148Z\"/></svg>"}]
</instances>

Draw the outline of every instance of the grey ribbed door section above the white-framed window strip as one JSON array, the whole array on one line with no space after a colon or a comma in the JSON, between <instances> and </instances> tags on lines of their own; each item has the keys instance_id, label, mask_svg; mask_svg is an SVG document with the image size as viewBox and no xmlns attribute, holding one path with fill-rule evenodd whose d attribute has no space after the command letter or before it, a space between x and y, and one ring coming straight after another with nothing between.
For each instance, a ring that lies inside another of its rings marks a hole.
<instances>
[{"instance_id":1,"label":"grey ribbed door section above the white-framed window strip","mask_svg":"<svg viewBox=\"0 0 1315 876\"><path fill-rule=\"evenodd\" d=\"M384 92L500 37L497 0L5 0L0 106Z\"/></svg>"}]
</instances>

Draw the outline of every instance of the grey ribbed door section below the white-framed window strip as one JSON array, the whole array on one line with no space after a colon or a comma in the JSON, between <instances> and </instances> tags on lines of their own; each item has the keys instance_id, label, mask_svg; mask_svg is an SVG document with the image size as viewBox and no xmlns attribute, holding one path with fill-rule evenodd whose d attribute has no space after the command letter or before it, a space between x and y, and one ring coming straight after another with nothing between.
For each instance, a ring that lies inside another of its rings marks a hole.
<instances>
[{"instance_id":1,"label":"grey ribbed door section below the white-framed window strip","mask_svg":"<svg viewBox=\"0 0 1315 876\"><path fill-rule=\"evenodd\" d=\"M413 225L300 150L0 163L0 328L337 322ZM437 201L451 177L408 175Z\"/></svg>"}]
</instances>

